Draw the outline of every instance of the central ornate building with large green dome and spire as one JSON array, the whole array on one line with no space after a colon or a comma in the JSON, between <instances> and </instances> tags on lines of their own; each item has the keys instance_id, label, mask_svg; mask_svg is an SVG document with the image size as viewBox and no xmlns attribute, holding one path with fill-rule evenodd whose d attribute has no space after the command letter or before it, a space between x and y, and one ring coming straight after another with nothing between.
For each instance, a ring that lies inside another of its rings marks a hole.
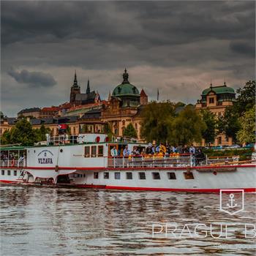
<instances>
[{"instance_id":1,"label":"central ornate building with large green dome and spire","mask_svg":"<svg viewBox=\"0 0 256 256\"><path fill-rule=\"evenodd\" d=\"M123 136L125 127L132 123L140 138L140 112L143 105L148 103L148 96L144 90L139 92L136 86L129 83L128 78L129 74L125 69L122 83L109 96L109 105L102 109L101 119L108 122L116 136Z\"/></svg>"}]
</instances>

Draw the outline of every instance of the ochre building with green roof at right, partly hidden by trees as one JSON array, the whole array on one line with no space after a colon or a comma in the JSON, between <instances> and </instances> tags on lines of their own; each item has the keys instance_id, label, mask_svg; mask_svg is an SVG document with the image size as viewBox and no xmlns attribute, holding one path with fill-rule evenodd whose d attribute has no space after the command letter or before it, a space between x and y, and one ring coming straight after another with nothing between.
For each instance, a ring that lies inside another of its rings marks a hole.
<instances>
[{"instance_id":1,"label":"ochre building with green roof at right, partly hidden by trees","mask_svg":"<svg viewBox=\"0 0 256 256\"><path fill-rule=\"evenodd\" d=\"M225 109L233 105L235 101L236 92L233 88L228 87L226 83L223 86L212 86L211 84L209 88L203 90L201 99L197 100L195 108L197 110L208 109L219 117L223 116ZM204 144L203 141L203 146ZM230 146L232 145L232 138L226 138L224 134L219 134L215 138L214 145Z\"/></svg>"}]
</instances>

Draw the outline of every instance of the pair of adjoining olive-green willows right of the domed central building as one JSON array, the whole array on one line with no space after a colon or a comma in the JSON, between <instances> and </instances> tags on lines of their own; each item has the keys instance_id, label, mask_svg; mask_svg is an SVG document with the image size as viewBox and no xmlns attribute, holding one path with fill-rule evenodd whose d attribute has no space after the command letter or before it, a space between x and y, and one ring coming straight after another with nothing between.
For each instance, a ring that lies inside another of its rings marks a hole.
<instances>
[{"instance_id":1,"label":"pair of adjoining olive-green willows right of the domed central building","mask_svg":"<svg viewBox=\"0 0 256 256\"><path fill-rule=\"evenodd\" d=\"M183 104L178 107L184 107ZM143 110L141 134L147 141L185 145L202 139L206 123L193 106L187 106L178 114L171 102L151 102Z\"/></svg>"}]
</instances>

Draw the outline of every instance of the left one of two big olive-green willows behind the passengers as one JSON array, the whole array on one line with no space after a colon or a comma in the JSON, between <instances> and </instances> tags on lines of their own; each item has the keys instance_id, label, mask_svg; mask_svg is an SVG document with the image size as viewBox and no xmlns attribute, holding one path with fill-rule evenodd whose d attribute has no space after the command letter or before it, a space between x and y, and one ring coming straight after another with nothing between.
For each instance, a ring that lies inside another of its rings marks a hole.
<instances>
[{"instance_id":1,"label":"left one of two big olive-green willows behind the passengers","mask_svg":"<svg viewBox=\"0 0 256 256\"><path fill-rule=\"evenodd\" d=\"M171 102L150 102L142 111L141 136L147 141L164 142L170 135L175 116Z\"/></svg>"}]
</instances>

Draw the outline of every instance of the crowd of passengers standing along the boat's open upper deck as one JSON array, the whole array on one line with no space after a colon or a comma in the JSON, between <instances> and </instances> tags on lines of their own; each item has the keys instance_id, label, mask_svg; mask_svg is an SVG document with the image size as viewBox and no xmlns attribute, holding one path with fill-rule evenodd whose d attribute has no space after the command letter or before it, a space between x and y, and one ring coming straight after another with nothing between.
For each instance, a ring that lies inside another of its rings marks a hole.
<instances>
[{"instance_id":1,"label":"crowd of passengers standing along the boat's open upper deck","mask_svg":"<svg viewBox=\"0 0 256 256\"><path fill-rule=\"evenodd\" d=\"M195 158L196 165L206 159L202 149L195 148L193 145L190 147L187 145L175 147L168 144L164 145L163 143L159 143L158 146L148 143L146 149L135 146L132 151L129 150L128 146L119 149L117 149L116 146L113 146L110 154L112 157L178 157L181 154L187 154L192 155Z\"/></svg>"}]
</instances>

